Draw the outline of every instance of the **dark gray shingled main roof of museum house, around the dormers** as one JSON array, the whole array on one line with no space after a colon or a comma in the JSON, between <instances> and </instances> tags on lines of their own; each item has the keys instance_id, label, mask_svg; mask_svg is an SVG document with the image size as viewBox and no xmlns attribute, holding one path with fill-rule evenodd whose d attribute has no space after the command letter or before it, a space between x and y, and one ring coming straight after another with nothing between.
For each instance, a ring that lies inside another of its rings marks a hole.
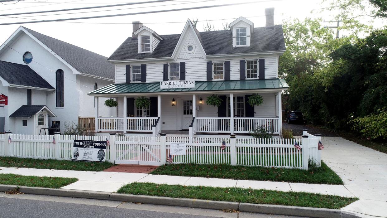
<instances>
[{"instance_id":1,"label":"dark gray shingled main roof of museum house, around the dormers","mask_svg":"<svg viewBox=\"0 0 387 218\"><path fill-rule=\"evenodd\" d=\"M274 28L254 28L249 47L233 48L232 34L229 30L196 33L200 35L200 43L202 43L207 55L286 50L282 25L275 25ZM161 37L163 37L164 40L159 43L152 53L140 54L137 53L137 38L129 37L112 55L110 55L108 60L171 57L180 38L180 34L161 35Z\"/></svg>"}]
</instances>

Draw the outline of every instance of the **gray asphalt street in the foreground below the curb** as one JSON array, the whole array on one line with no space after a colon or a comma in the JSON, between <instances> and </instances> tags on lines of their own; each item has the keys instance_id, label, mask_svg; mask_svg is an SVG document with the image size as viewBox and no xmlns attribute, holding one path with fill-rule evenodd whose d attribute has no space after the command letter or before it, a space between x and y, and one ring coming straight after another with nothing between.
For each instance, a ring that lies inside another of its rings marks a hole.
<instances>
[{"instance_id":1,"label":"gray asphalt street in the foreground below the curb","mask_svg":"<svg viewBox=\"0 0 387 218\"><path fill-rule=\"evenodd\" d=\"M0 192L0 217L7 218L285 218L253 213L225 213L198 208L123 203L71 197Z\"/></svg>"}]
</instances>

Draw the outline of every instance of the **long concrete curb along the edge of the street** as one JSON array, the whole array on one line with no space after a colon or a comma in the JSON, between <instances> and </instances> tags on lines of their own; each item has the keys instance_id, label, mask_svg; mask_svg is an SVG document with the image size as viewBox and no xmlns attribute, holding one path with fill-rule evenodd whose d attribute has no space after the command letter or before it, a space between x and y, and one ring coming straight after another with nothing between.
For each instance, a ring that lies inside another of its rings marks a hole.
<instances>
[{"instance_id":1,"label":"long concrete curb along the edge of the street","mask_svg":"<svg viewBox=\"0 0 387 218\"><path fill-rule=\"evenodd\" d=\"M40 187L26 187L18 185L0 185L0 191L10 191L19 187L19 192L25 194L38 194L61 197L78 197L110 201L124 201L130 203L158 204L168 206L182 206L202 209L235 209L248 213L270 213L287 216L306 216L315 218L360 218L353 213L339 209L307 208L295 206L282 206L271 204L250 204L228 201L209 201L200 199L185 199L172 197L158 197L146 195L118 194L114 192L82 191L72 189L49 189Z\"/></svg>"}]
</instances>

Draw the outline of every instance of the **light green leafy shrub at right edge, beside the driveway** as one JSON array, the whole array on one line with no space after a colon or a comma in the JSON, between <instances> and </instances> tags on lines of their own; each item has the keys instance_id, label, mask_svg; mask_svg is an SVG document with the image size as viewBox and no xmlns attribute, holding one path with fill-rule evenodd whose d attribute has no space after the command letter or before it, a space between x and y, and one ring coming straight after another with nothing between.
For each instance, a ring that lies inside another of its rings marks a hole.
<instances>
[{"instance_id":1,"label":"light green leafy shrub at right edge, beside the driveway","mask_svg":"<svg viewBox=\"0 0 387 218\"><path fill-rule=\"evenodd\" d=\"M351 129L370 139L387 139L387 108L350 122Z\"/></svg>"}]
</instances>

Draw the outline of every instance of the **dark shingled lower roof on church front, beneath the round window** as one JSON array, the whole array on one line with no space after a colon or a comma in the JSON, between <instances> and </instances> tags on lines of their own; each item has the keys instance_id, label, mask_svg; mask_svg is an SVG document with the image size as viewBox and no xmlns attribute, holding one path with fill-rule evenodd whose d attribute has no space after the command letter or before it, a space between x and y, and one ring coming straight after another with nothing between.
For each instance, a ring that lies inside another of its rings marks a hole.
<instances>
[{"instance_id":1,"label":"dark shingled lower roof on church front, beneath the round window","mask_svg":"<svg viewBox=\"0 0 387 218\"><path fill-rule=\"evenodd\" d=\"M0 60L0 76L12 85L55 89L28 65Z\"/></svg>"}]
</instances>

